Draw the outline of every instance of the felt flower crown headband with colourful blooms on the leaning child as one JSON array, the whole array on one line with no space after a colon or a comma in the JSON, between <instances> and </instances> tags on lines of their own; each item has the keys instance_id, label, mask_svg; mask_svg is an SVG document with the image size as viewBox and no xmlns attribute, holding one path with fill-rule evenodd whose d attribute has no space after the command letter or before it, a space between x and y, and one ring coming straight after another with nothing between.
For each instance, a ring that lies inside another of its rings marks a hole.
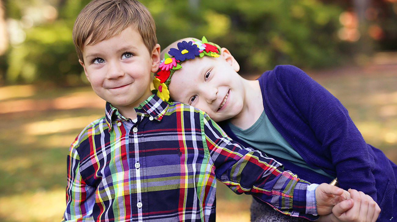
<instances>
[{"instance_id":1,"label":"felt flower crown headband with colourful blooms on the leaning child","mask_svg":"<svg viewBox=\"0 0 397 222\"><path fill-rule=\"evenodd\" d=\"M204 55L210 57L219 57L221 48L212 42L208 42L205 36L201 41L178 42L178 49L171 48L170 51L164 53L164 59L160 63L159 71L153 78L154 88L157 90L157 96L164 101L170 100L170 91L168 85L171 82L171 76L182 68L181 63L188 59L195 59L197 56L200 58ZM173 57L171 57L171 56Z\"/></svg>"}]
</instances>

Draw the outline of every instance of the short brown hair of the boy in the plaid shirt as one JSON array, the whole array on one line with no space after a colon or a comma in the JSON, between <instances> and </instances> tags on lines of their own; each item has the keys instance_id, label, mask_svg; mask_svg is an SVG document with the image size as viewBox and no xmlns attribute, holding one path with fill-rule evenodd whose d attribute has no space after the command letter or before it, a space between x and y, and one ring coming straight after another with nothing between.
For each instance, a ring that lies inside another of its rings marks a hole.
<instances>
[{"instance_id":1,"label":"short brown hair of the boy in the plaid shirt","mask_svg":"<svg viewBox=\"0 0 397 222\"><path fill-rule=\"evenodd\" d=\"M73 43L77 56L83 60L84 44L110 39L125 28L132 27L141 34L143 43L152 51L157 43L156 25L148 9L135 0L93 0L77 15L73 26Z\"/></svg>"}]
</instances>

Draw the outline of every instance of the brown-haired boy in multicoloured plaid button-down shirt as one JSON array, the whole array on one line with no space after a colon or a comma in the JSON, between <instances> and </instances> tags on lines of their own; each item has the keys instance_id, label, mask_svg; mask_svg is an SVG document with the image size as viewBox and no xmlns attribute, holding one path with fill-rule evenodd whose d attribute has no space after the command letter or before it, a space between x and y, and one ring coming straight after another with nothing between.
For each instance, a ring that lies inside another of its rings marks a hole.
<instances>
[{"instance_id":1,"label":"brown-haired boy in multicoloured plaid button-down shirt","mask_svg":"<svg viewBox=\"0 0 397 222\"><path fill-rule=\"evenodd\" d=\"M93 0L73 42L106 108L71 144L63 221L214 221L216 179L293 216L354 205L349 192L300 180L231 141L204 112L153 95L160 46L139 2Z\"/></svg>"}]
</instances>

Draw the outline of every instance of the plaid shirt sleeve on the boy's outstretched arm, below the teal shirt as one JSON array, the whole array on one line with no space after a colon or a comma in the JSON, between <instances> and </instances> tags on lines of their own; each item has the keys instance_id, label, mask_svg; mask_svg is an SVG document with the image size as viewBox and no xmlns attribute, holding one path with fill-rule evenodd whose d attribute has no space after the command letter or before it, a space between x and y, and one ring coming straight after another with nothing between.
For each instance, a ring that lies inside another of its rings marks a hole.
<instances>
[{"instance_id":1,"label":"plaid shirt sleeve on the boy's outstretched arm, below the teal shirt","mask_svg":"<svg viewBox=\"0 0 397 222\"><path fill-rule=\"evenodd\" d=\"M309 182L283 171L281 163L261 152L232 141L208 115L204 114L202 124L204 147L208 147L218 180L236 194L252 194L281 213L309 220L318 218L305 213L307 205L316 206L315 198L306 200ZM316 208L310 212L316 213Z\"/></svg>"}]
</instances>

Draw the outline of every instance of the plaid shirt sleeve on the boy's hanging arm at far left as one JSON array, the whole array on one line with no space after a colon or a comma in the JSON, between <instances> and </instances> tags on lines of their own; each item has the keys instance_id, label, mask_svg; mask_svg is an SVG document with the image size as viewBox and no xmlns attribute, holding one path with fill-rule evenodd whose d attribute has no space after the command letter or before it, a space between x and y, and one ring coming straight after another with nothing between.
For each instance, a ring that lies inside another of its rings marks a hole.
<instances>
[{"instance_id":1,"label":"plaid shirt sleeve on the boy's hanging arm at far left","mask_svg":"<svg viewBox=\"0 0 397 222\"><path fill-rule=\"evenodd\" d=\"M67 156L66 210L62 222L93 222L94 202L94 188L84 182L80 174L80 157L72 146Z\"/></svg>"}]
</instances>

